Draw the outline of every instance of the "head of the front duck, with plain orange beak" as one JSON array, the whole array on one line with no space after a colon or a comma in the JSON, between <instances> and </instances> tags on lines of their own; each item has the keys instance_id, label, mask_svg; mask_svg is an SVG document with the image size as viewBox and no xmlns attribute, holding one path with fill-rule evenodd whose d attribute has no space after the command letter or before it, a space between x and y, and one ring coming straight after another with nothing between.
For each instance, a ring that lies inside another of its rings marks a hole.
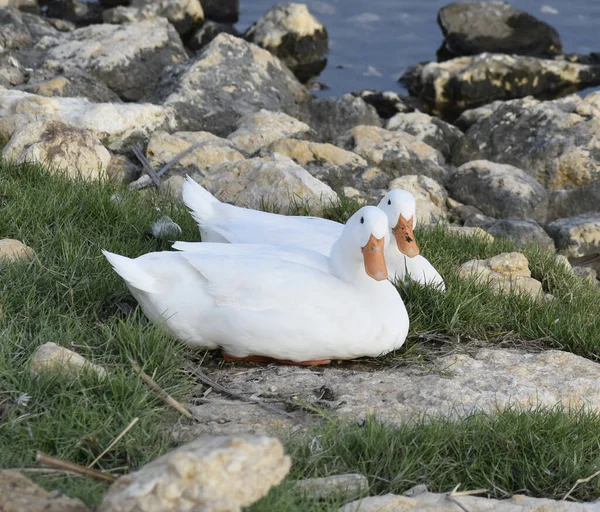
<instances>
[{"instance_id":1,"label":"head of the front duck, with plain orange beak","mask_svg":"<svg viewBox=\"0 0 600 512\"><path fill-rule=\"evenodd\" d=\"M361 258L365 272L376 281L388 278L385 264L385 247L388 244L388 219L374 206L358 210L344 227L340 242L349 254ZM360 253L358 252L360 250ZM361 256L358 256L358 255Z\"/></svg>"}]
</instances>

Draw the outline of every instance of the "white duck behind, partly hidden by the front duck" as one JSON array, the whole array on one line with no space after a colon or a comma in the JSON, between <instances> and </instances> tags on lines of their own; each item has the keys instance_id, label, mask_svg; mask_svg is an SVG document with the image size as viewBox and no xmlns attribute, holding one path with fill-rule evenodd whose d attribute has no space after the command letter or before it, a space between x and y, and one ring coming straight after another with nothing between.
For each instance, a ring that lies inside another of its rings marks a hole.
<instances>
[{"instance_id":1,"label":"white duck behind, partly hidden by the front duck","mask_svg":"<svg viewBox=\"0 0 600 512\"><path fill-rule=\"evenodd\" d=\"M344 227L317 217L278 215L222 203L190 177L183 185L183 201L198 223L203 242L283 244L328 256ZM390 190L378 208L387 215L395 240L387 246L385 253L391 277L410 278L444 291L442 276L419 254L413 234L417 222L413 195L406 190ZM181 243L176 248L194 251L197 247L197 244Z\"/></svg>"}]
</instances>

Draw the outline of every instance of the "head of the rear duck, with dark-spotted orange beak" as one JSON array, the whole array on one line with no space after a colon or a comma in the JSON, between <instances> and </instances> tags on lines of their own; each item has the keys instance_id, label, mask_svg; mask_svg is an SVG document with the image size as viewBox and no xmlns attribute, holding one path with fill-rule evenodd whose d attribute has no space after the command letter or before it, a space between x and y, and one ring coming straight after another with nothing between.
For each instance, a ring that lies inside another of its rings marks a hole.
<instances>
[{"instance_id":1,"label":"head of the rear duck, with dark-spotted orange beak","mask_svg":"<svg viewBox=\"0 0 600 512\"><path fill-rule=\"evenodd\" d=\"M398 250L409 258L417 256L419 246L413 233L417 225L414 196L406 190L395 188L383 196L377 207L387 215Z\"/></svg>"}]
</instances>

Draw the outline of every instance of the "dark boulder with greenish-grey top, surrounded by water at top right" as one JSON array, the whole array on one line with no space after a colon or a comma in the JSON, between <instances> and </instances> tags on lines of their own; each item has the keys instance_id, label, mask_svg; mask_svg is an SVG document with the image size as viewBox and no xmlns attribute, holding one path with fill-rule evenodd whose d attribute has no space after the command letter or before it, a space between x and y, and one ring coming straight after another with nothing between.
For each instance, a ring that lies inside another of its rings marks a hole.
<instances>
[{"instance_id":1,"label":"dark boulder with greenish-grey top, surrounded by water at top right","mask_svg":"<svg viewBox=\"0 0 600 512\"><path fill-rule=\"evenodd\" d=\"M451 57L484 52L543 57L562 50L554 28L505 2L452 3L439 10L438 24L444 53Z\"/></svg>"}]
</instances>

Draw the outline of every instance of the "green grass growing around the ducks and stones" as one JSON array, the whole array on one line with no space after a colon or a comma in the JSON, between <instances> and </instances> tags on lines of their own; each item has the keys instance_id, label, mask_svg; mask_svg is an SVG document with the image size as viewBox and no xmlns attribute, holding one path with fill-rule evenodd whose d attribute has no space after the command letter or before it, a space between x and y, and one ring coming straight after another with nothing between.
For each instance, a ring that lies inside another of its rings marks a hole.
<instances>
[{"instance_id":1,"label":"green grass growing around the ducks and stones","mask_svg":"<svg viewBox=\"0 0 600 512\"><path fill-rule=\"evenodd\" d=\"M114 200L115 193L120 200ZM344 221L356 208L342 199L324 215ZM298 204L293 213L309 211ZM126 313L135 301L100 252L137 256L168 249L168 243L146 235L163 215L183 228L182 240L198 240L185 209L155 191L129 192L109 182L71 181L37 166L0 162L1 236L19 239L36 253L30 263L0 263L0 467L37 467L36 451L87 465L135 417L138 424L100 460L99 469L126 473L173 446L169 432L181 420L139 380L129 358L185 401L193 385L183 372L189 352L143 315ZM422 253L446 279L448 292L414 285L401 289L412 322L407 350L373 360L373 365L411 364L415 354L427 357L435 337L454 343L511 337L598 358L600 294L552 255L525 250L534 277L556 297L536 303L496 295L456 276L458 264L513 250L512 244L457 240L443 226L418 230L417 236ZM28 361L48 341L104 365L109 377L54 373L36 378ZM556 497L600 465L599 427L596 415L559 411L509 411L397 429L373 421L362 427L325 421L310 434L317 444L288 440L295 462L289 481L360 471L370 478L374 493L399 492L416 483L450 490L461 483L463 488L488 488L494 496L524 490ZM322 450L310 452L308 446L318 444ZM98 504L106 489L82 477L32 477L90 505ZM253 510L333 510L333 502L317 504L288 492L289 481ZM588 499L597 494L597 485L583 485L574 496Z\"/></svg>"}]
</instances>

